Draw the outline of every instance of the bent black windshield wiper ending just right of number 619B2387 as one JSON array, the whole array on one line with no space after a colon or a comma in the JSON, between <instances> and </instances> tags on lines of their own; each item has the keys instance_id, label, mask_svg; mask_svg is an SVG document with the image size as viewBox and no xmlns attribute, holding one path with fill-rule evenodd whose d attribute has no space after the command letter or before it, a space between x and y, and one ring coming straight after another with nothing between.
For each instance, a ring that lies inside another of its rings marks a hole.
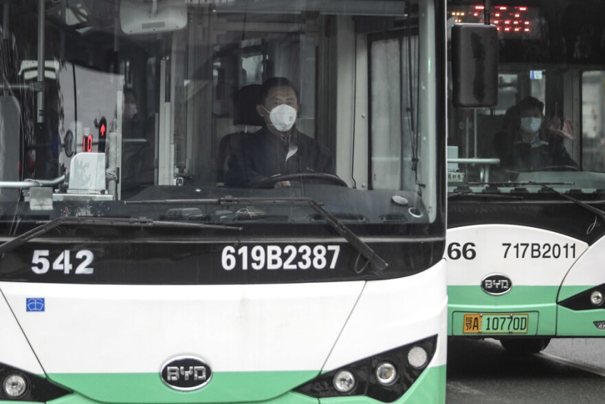
<instances>
[{"instance_id":1,"label":"bent black windshield wiper ending just right of number 619B2387","mask_svg":"<svg viewBox=\"0 0 605 404\"><path fill-rule=\"evenodd\" d=\"M217 198L217 199L168 199L168 200L140 200L140 201L124 201L123 204L216 204L223 206L248 206L254 204L265 205L306 205L311 206L323 219L334 228L344 240L347 240L362 257L368 260L377 270L385 270L388 263L382 259L377 253L363 240L360 239L350 228L345 226L338 217L332 215L324 209L318 202L311 198Z\"/></svg>"}]
</instances>

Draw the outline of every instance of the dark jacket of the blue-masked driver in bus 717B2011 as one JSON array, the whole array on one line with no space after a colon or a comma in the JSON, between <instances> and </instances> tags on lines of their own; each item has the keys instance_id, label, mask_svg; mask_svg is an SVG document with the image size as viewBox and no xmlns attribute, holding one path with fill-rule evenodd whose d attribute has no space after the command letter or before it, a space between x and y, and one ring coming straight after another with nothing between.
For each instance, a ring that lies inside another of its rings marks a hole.
<instances>
[{"instance_id":1,"label":"dark jacket of the blue-masked driver in bus 717B2011","mask_svg":"<svg viewBox=\"0 0 605 404\"><path fill-rule=\"evenodd\" d=\"M538 171L547 167L579 169L567 153L563 138L548 129L540 129L531 142L522 140L520 134L500 132L496 135L495 146L501 167L518 171Z\"/></svg>"}]
</instances>

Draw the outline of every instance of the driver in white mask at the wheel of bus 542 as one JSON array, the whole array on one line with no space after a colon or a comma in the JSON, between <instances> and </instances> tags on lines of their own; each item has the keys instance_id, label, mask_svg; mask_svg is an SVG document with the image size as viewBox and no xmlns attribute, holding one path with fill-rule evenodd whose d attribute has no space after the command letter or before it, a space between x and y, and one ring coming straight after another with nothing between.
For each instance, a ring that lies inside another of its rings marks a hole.
<instances>
[{"instance_id":1,"label":"driver in white mask at the wheel of bus 542","mask_svg":"<svg viewBox=\"0 0 605 404\"><path fill-rule=\"evenodd\" d=\"M287 78L269 78L263 83L256 112L265 123L259 131L242 138L239 152L228 159L225 185L253 187L285 174L335 175L331 151L296 128L298 110L298 91ZM289 185L285 180L274 187Z\"/></svg>"}]
</instances>

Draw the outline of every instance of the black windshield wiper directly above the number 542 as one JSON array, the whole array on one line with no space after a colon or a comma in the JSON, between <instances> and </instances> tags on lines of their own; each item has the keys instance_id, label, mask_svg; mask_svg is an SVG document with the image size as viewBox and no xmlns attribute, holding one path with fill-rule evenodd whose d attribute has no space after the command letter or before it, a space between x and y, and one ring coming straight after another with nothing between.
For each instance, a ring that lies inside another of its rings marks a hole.
<instances>
[{"instance_id":1,"label":"black windshield wiper directly above the number 542","mask_svg":"<svg viewBox=\"0 0 605 404\"><path fill-rule=\"evenodd\" d=\"M91 225L91 226L119 226L119 227L167 227L167 228L204 228L204 229L217 229L217 230L238 230L241 231L241 227L236 226L223 226L219 224L204 224L204 223L186 223L186 222L169 222L164 220L153 220L148 217L91 217L91 216L60 216L55 217L48 222L32 228L30 231L13 237L0 244L0 254L6 253L13 248L17 248L22 244L32 240L34 237L38 237L51 231L53 228L62 225Z\"/></svg>"}]
</instances>

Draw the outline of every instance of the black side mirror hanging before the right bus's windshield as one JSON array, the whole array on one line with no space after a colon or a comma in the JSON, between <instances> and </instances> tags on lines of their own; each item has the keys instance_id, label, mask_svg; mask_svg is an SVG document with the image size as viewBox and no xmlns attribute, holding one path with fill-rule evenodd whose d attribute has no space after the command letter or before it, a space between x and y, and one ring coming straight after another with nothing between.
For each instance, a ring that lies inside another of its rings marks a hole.
<instances>
[{"instance_id":1,"label":"black side mirror hanging before the right bus's windshield","mask_svg":"<svg viewBox=\"0 0 605 404\"><path fill-rule=\"evenodd\" d=\"M495 25L452 27L454 107L498 104L498 30Z\"/></svg>"}]
</instances>

